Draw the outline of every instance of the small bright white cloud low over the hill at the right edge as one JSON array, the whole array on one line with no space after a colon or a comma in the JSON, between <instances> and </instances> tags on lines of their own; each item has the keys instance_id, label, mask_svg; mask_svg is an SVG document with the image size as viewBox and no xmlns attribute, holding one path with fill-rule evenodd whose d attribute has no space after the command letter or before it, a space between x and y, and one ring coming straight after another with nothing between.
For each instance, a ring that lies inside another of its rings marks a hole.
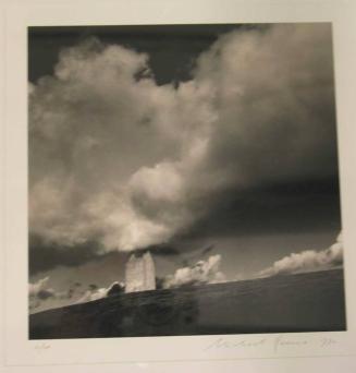
<instances>
[{"instance_id":1,"label":"small bright white cloud low over the hill at the right edge","mask_svg":"<svg viewBox=\"0 0 356 373\"><path fill-rule=\"evenodd\" d=\"M275 275L296 274L310 270L330 269L343 264L343 242L342 233L339 234L336 242L330 248L321 251L307 250L300 253L292 253L289 256L273 263L259 273L259 277Z\"/></svg>"}]
</instances>

